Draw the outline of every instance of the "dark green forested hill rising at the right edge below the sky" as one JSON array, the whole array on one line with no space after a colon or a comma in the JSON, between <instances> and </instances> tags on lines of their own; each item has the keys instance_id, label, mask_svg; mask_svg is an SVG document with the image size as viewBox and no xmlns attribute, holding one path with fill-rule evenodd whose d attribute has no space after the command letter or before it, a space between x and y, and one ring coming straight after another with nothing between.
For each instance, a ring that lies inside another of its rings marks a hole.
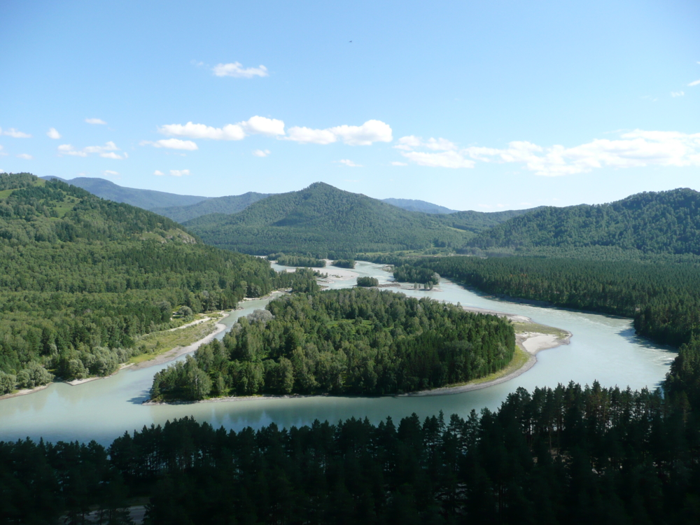
<instances>
[{"instance_id":1,"label":"dark green forested hill rising at the right edge below the sky","mask_svg":"<svg viewBox=\"0 0 700 525\"><path fill-rule=\"evenodd\" d=\"M484 250L551 254L603 248L700 255L700 193L688 188L631 195L610 204L546 207L515 217L472 239Z\"/></svg>"}]
</instances>

